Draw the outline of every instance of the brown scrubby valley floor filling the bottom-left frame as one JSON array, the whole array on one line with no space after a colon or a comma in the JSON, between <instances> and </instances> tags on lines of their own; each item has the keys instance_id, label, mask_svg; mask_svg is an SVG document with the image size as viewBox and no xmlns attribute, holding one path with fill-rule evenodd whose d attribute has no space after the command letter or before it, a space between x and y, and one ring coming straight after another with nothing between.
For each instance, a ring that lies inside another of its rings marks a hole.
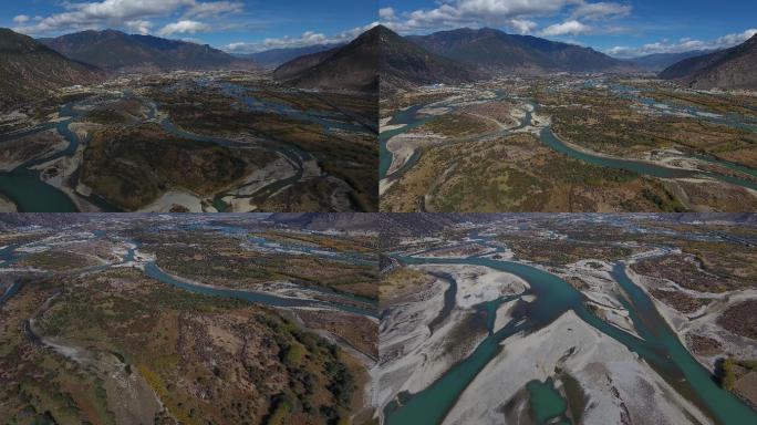
<instances>
[{"instance_id":1,"label":"brown scrubby valley floor filling the bottom-left frame","mask_svg":"<svg viewBox=\"0 0 757 425\"><path fill-rule=\"evenodd\" d=\"M375 235L77 216L0 217L0 423L370 422Z\"/></svg>"}]
</instances>

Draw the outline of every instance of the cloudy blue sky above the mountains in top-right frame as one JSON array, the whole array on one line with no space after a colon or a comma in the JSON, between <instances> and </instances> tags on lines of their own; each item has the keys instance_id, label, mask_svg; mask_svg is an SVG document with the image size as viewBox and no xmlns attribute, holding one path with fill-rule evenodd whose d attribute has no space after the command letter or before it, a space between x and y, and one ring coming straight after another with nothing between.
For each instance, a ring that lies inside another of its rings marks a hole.
<instances>
[{"instance_id":1,"label":"cloudy blue sky above the mountains in top-right frame","mask_svg":"<svg viewBox=\"0 0 757 425\"><path fill-rule=\"evenodd\" d=\"M615 56L716 49L757 33L754 0L380 0L403 34L491 27Z\"/></svg>"}]
</instances>

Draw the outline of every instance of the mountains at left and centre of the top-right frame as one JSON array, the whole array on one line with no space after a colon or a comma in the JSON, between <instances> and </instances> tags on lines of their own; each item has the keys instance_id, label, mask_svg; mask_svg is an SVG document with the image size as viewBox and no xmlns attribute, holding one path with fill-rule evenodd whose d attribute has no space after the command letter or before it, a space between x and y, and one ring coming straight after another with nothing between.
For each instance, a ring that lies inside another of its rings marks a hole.
<instances>
[{"instance_id":1,"label":"mountains at left and centre of the top-right frame","mask_svg":"<svg viewBox=\"0 0 757 425\"><path fill-rule=\"evenodd\" d=\"M634 64L590 48L499 30L467 28L428 35L382 33L382 92L408 85L458 84L502 74L637 72Z\"/></svg>"}]
</instances>

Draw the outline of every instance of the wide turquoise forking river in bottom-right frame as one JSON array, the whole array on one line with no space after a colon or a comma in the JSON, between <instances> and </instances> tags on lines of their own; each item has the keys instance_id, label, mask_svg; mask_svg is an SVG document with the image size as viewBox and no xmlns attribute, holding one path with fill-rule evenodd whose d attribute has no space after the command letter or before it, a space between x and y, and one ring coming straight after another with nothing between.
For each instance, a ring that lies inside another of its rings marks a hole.
<instances>
[{"instance_id":1,"label":"wide turquoise forking river in bottom-right frame","mask_svg":"<svg viewBox=\"0 0 757 425\"><path fill-rule=\"evenodd\" d=\"M499 249L499 248L498 248ZM567 311L573 311L587 324L637 353L676 391L694 402L718 424L757 424L757 412L732 393L723 390L712 373L702 366L681 343L677 334L660 315L649 296L625 273L624 262L615 263L612 276L624 296L624 307L641 338L615 328L595 317L585 305L584 296L556 274L541 269L483 257L466 259L419 259L394 256L405 265L474 265L509 272L526 280L536 297L523 309L516 309L512 320L497 332L490 332L475 351L452 366L442 377L416 394L400 394L398 401L384 408L385 422L392 424L439 424L460 394L478 373L501 352L501 343L518 332L533 332L548 326ZM506 301L489 302L487 311ZM502 376L506 379L506 376ZM549 392L541 392L550 395ZM502 401L505 402L505 401ZM539 405L538 403L536 404ZM547 403L553 406L552 403ZM533 404L532 404L533 406Z\"/></svg>"}]
</instances>

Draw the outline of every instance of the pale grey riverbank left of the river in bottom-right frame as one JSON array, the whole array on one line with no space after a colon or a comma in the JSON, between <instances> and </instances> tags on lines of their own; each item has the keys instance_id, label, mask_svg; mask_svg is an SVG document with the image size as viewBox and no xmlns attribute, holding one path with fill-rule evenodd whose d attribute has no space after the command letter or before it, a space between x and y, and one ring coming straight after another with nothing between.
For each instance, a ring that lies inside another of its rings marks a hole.
<instances>
[{"instance_id":1,"label":"pale grey riverbank left of the river in bottom-right frame","mask_svg":"<svg viewBox=\"0 0 757 425\"><path fill-rule=\"evenodd\" d=\"M522 279L486 267L423 265L409 269L434 279L393 301L382 314L381 386L374 400L382 416L398 394L425 390L474 352L487 335L476 305L527 289Z\"/></svg>"}]
</instances>

